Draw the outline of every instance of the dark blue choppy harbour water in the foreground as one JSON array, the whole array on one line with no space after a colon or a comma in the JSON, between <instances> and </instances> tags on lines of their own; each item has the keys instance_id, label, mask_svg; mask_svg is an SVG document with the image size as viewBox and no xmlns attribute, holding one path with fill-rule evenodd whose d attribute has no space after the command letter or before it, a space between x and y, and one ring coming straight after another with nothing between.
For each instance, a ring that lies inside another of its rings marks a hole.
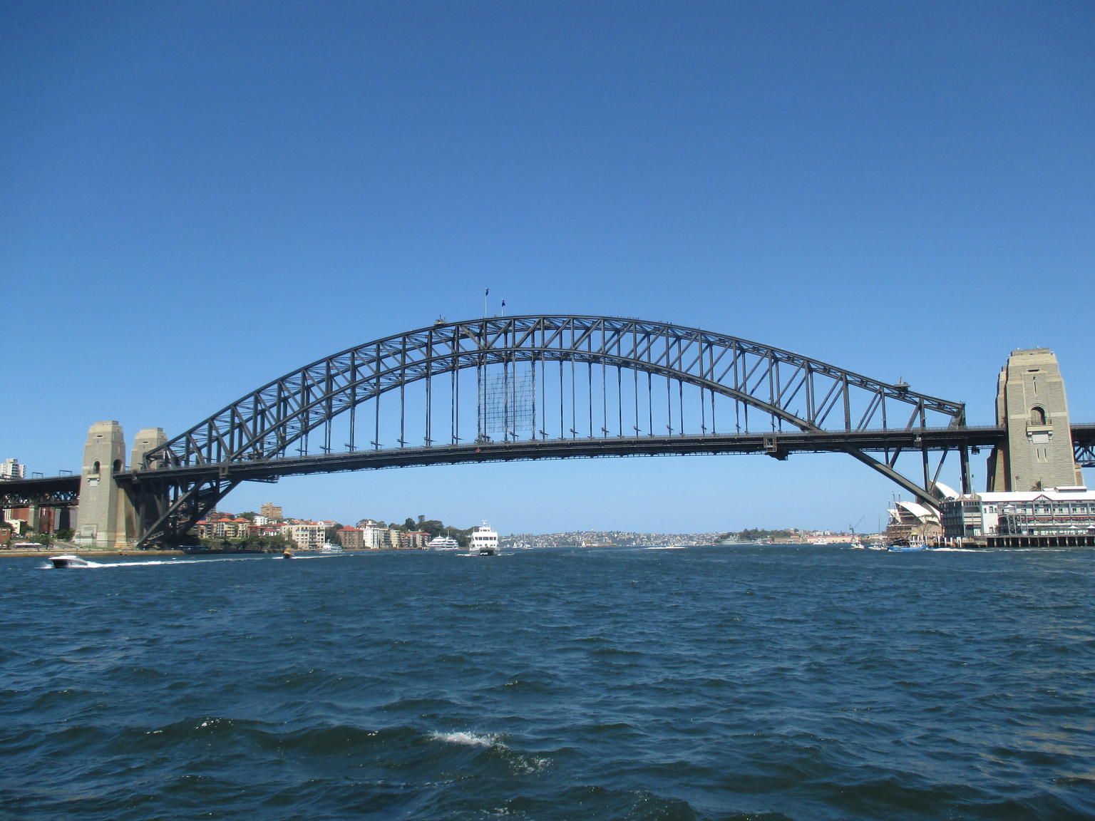
<instances>
[{"instance_id":1,"label":"dark blue choppy harbour water in the foreground","mask_svg":"<svg viewBox=\"0 0 1095 821\"><path fill-rule=\"evenodd\" d=\"M1091 819L1092 551L0 562L0 816Z\"/></svg>"}]
</instances>

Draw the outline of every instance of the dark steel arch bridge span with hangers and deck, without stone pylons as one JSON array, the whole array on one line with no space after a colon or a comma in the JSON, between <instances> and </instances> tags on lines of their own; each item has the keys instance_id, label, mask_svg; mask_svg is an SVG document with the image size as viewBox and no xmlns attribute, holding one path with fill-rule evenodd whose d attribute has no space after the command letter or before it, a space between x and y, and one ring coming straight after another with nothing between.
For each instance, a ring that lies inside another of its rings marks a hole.
<instances>
[{"instance_id":1,"label":"dark steel arch bridge span with hangers and deck, without stone pylons","mask_svg":"<svg viewBox=\"0 0 1095 821\"><path fill-rule=\"evenodd\" d=\"M999 442L965 405L768 345L661 322L512 316L366 343L242 396L116 478L142 545L178 543L243 481L568 456L848 453L925 501L929 451ZM868 455L877 452L881 458ZM922 482L896 470L913 451Z\"/></svg>"}]
</instances>

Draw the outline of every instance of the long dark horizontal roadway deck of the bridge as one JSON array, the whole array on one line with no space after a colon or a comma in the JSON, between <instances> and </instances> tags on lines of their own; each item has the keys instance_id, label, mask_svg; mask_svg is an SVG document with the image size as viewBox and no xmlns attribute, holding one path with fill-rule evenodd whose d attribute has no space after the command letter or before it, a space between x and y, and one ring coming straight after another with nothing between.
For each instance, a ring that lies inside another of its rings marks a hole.
<instances>
[{"instance_id":1,"label":"long dark horizontal roadway deck of the bridge","mask_svg":"<svg viewBox=\"0 0 1095 821\"><path fill-rule=\"evenodd\" d=\"M1095 466L1095 423L1072 426L1076 458ZM122 485L145 481L176 482L219 474L242 482L272 482L309 473L410 467L469 462L518 462L535 459L599 456L669 456L715 453L765 453L785 459L792 453L840 453L846 448L868 452L938 451L991 448L1004 441L1002 427L910 428L908 430L776 431L712 436L615 437L480 442L423 448L353 451L277 459L171 467L115 474ZM0 481L0 507L71 507L79 504L80 476Z\"/></svg>"}]
</instances>

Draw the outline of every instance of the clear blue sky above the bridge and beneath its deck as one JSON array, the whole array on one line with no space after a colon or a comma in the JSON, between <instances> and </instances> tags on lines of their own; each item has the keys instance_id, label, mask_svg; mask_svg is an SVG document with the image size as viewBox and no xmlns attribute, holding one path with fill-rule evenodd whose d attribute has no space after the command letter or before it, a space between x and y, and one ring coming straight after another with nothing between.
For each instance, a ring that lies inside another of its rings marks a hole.
<instances>
[{"instance_id":1,"label":"clear blue sky above the bridge and beneath its deck","mask_svg":"<svg viewBox=\"0 0 1095 821\"><path fill-rule=\"evenodd\" d=\"M177 433L314 359L482 314L768 343L990 424L1013 348L1095 420L1091 2L0 2L0 459ZM977 481L983 482L983 464ZM845 528L849 458L246 486L503 532Z\"/></svg>"}]
</instances>

